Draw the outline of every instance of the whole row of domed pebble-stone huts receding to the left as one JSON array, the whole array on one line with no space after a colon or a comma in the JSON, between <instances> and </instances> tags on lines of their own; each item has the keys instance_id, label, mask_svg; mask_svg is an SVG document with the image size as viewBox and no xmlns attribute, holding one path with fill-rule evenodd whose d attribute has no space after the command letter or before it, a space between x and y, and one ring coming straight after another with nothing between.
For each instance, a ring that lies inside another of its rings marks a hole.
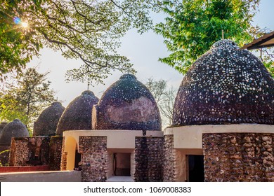
<instances>
[{"instance_id":1,"label":"whole row of domed pebble-stone huts receding to the left","mask_svg":"<svg viewBox=\"0 0 274 196\"><path fill-rule=\"evenodd\" d=\"M221 40L190 67L162 131L152 94L124 74L98 99L54 102L33 137L1 124L10 166L80 169L82 181L274 181L274 80L262 62Z\"/></svg>"}]
</instances>

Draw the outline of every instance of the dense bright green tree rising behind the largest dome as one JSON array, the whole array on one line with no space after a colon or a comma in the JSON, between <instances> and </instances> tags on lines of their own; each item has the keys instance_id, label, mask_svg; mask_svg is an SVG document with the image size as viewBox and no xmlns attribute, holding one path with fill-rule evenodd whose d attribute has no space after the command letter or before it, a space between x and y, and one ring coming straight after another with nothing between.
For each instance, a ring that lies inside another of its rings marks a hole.
<instances>
[{"instance_id":1,"label":"dense bright green tree rising behind the largest dome","mask_svg":"<svg viewBox=\"0 0 274 196\"><path fill-rule=\"evenodd\" d=\"M253 39L250 22L259 0L168 0L163 4L168 17L155 31L166 38L164 43L171 54L159 60L181 73L221 40L222 31L238 45Z\"/></svg>"}]
</instances>

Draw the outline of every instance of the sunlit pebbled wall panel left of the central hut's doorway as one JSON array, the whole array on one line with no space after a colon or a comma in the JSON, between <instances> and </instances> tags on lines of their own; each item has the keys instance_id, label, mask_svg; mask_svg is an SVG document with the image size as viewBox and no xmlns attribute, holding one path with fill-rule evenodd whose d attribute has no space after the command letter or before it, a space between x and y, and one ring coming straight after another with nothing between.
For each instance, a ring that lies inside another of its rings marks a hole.
<instances>
[{"instance_id":1,"label":"sunlit pebbled wall panel left of the central hut's doorway","mask_svg":"<svg viewBox=\"0 0 274 196\"><path fill-rule=\"evenodd\" d=\"M82 181L106 181L107 137L79 137Z\"/></svg>"}]
</instances>

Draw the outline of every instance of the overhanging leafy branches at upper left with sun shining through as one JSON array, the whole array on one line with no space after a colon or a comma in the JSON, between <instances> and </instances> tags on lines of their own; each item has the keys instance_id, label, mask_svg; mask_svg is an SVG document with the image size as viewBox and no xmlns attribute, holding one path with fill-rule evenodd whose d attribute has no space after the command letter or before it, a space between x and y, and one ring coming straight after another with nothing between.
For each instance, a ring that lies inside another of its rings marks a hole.
<instances>
[{"instance_id":1,"label":"overhanging leafy branches at upper left with sun shining through","mask_svg":"<svg viewBox=\"0 0 274 196\"><path fill-rule=\"evenodd\" d=\"M44 46L66 58L81 59L68 80L102 83L110 71L131 71L119 55L119 38L127 30L140 33L152 27L149 10L157 0L4 0L0 2L0 76L22 72Z\"/></svg>"}]
</instances>

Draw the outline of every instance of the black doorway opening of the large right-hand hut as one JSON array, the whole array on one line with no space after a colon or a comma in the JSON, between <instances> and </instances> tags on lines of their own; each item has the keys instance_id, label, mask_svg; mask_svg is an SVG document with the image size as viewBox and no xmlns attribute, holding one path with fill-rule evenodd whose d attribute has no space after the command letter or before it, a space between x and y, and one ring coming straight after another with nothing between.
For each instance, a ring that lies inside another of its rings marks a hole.
<instances>
[{"instance_id":1,"label":"black doorway opening of the large right-hand hut","mask_svg":"<svg viewBox=\"0 0 274 196\"><path fill-rule=\"evenodd\" d=\"M188 155L188 181L204 182L204 155Z\"/></svg>"}]
</instances>

